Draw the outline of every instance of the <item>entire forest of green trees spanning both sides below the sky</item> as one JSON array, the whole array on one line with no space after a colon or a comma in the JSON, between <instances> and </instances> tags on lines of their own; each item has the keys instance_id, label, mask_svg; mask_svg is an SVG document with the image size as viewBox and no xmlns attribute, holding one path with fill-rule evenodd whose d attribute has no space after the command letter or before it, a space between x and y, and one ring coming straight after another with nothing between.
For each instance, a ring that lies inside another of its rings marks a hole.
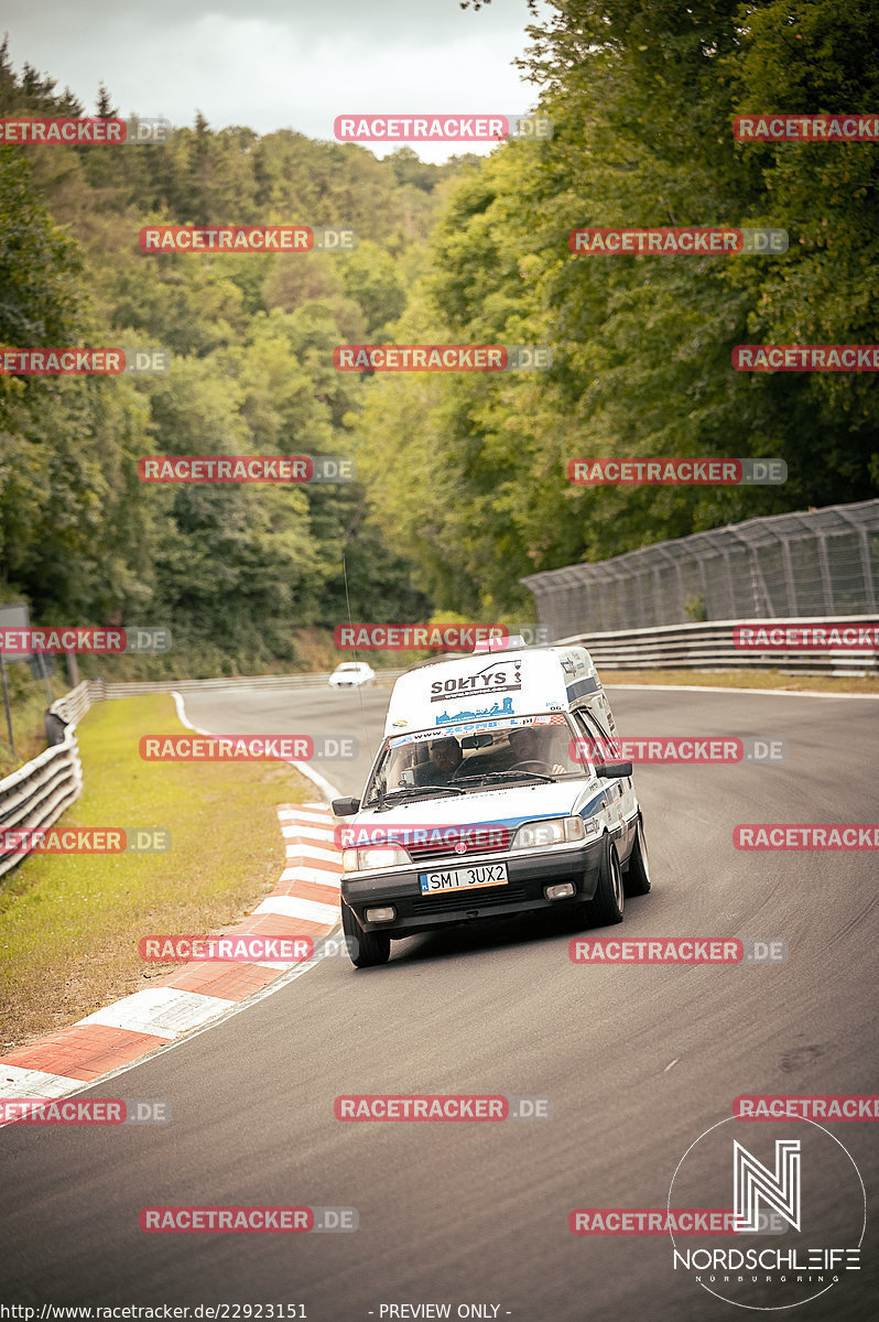
<instances>
[{"instance_id":1,"label":"entire forest of green trees spanning both sides below the sky","mask_svg":"<svg viewBox=\"0 0 879 1322\"><path fill-rule=\"evenodd\" d=\"M171 625L201 673L252 673L345 617L342 553L356 619L529 617L525 574L876 494L874 375L730 362L879 342L879 145L731 128L875 112L871 0L566 0L522 70L554 137L444 167L201 116L168 145L0 147L0 344L173 354L156 377L0 375L0 600ZM3 49L1 115L83 112ZM360 247L151 256L148 222L352 225ZM767 225L790 247L574 256L587 225ZM549 344L554 366L336 371L363 341ZM361 480L144 486L145 453L350 453ZM570 459L604 455L779 456L789 481L570 485Z\"/></svg>"}]
</instances>

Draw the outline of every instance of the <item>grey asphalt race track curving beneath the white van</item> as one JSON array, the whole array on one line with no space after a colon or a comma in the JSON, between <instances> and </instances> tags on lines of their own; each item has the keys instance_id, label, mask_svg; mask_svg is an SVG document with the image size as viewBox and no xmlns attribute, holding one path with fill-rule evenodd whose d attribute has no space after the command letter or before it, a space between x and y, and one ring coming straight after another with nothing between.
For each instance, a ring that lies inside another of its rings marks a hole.
<instances>
[{"instance_id":1,"label":"grey asphalt race track curving beneath the white van","mask_svg":"<svg viewBox=\"0 0 879 1322\"><path fill-rule=\"evenodd\" d=\"M575 965L555 915L415 937L379 969L326 958L90 1092L168 1099L169 1125L0 1130L0 1300L296 1302L311 1322L434 1302L519 1322L735 1317L673 1272L668 1236L576 1236L568 1212L664 1208L679 1158L742 1093L879 1092L876 855L732 846L739 822L875 821L879 711L745 691L609 695L627 735L786 740L775 765L637 769L654 888L612 933L784 939L784 962ZM186 713L221 734L354 735L358 761L319 769L360 793L386 703L386 689L362 705L229 690L189 697ZM553 1116L344 1124L341 1093L547 1097ZM735 1125L752 1146L764 1128ZM867 1190L863 1270L794 1315L875 1318L879 1126L827 1128ZM830 1166L804 1174L804 1202L827 1216L850 1215L845 1198ZM148 1235L145 1204L354 1207L360 1228Z\"/></svg>"}]
</instances>

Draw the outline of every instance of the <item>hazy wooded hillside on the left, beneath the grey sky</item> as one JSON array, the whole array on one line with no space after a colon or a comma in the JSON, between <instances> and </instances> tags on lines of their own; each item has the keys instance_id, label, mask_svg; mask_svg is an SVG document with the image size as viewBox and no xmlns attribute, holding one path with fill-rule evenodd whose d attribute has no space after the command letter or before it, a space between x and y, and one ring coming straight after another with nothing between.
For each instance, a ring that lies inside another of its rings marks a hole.
<instances>
[{"instance_id":1,"label":"hazy wooded hillside on the left, beneath the grey sky","mask_svg":"<svg viewBox=\"0 0 879 1322\"><path fill-rule=\"evenodd\" d=\"M89 112L4 45L0 114ZM292 631L345 619L342 551L361 619L430 613L361 483L156 486L137 459L350 455L363 386L332 350L386 337L456 169L201 118L167 145L0 147L0 344L172 354L164 375L0 377L0 600L34 623L169 625L201 673L289 669ZM151 221L353 225L360 246L144 255Z\"/></svg>"}]
</instances>

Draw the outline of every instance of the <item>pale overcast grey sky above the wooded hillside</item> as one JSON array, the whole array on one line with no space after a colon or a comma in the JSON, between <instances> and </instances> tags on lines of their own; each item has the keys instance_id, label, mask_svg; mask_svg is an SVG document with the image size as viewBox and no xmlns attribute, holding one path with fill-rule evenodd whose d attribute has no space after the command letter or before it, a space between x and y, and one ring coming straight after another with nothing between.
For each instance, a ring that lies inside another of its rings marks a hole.
<instances>
[{"instance_id":1,"label":"pale overcast grey sky above the wooded hillside","mask_svg":"<svg viewBox=\"0 0 879 1322\"><path fill-rule=\"evenodd\" d=\"M348 112L533 108L537 90L512 66L533 21L525 0L478 13L459 0L4 0L0 30L17 70L28 62L50 74L87 112L103 81L122 115L181 126L200 110L213 128L332 140ZM410 145L432 161L490 151Z\"/></svg>"}]
</instances>

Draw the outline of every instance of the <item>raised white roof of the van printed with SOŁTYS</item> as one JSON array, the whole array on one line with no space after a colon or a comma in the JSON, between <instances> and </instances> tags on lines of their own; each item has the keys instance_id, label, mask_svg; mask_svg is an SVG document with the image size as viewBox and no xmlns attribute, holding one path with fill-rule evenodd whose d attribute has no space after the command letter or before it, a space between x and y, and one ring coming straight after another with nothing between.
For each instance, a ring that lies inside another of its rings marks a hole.
<instances>
[{"instance_id":1,"label":"raised white roof of the van printed with SO\u0141TYS","mask_svg":"<svg viewBox=\"0 0 879 1322\"><path fill-rule=\"evenodd\" d=\"M435 661L399 677L385 734L467 723L490 728L519 715L563 711L600 691L586 648L523 648Z\"/></svg>"}]
</instances>

